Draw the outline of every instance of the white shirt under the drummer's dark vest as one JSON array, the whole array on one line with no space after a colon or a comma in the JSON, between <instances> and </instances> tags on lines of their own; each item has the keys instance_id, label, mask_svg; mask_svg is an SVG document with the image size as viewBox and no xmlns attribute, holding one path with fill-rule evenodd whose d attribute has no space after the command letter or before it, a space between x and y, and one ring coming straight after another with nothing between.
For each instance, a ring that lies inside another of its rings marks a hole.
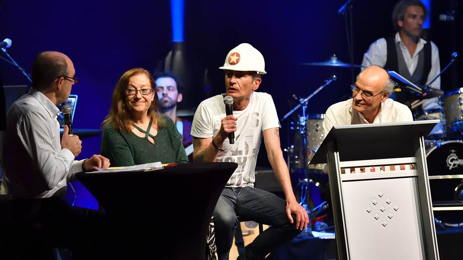
<instances>
[{"instance_id":1,"label":"white shirt under the drummer's dark vest","mask_svg":"<svg viewBox=\"0 0 463 260\"><path fill-rule=\"evenodd\" d=\"M402 43L400 39L399 33L395 35L395 43L399 43L400 50L402 51L402 55L405 60L405 64L407 65L408 71L410 75L413 75L415 72L416 66L418 65L418 57L420 51L423 49L424 45L427 41L420 38L418 40L418 45L416 47L415 53L413 56L410 55L407 47ZM387 43L385 38L380 38L373 42L368 50L363 55L362 61L362 68L366 68L368 66L376 65L381 68L384 68L386 65L387 60ZM431 70L428 74L428 78L426 80L426 84L429 84L439 73L441 72L441 64L439 61L439 49L437 48L434 42L431 42ZM398 73L398 72L397 72ZM437 78L436 81L433 82L431 87L441 89L441 77ZM439 108L439 99L437 97L427 99L423 105L423 110L429 109L436 109Z\"/></svg>"}]
</instances>

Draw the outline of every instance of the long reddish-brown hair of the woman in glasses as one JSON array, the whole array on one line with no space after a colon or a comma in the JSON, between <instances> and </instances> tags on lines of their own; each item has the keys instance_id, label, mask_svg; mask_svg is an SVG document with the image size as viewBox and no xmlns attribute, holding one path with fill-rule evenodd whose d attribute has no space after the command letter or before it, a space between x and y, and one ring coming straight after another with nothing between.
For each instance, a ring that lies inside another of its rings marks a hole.
<instances>
[{"instance_id":1,"label":"long reddish-brown hair of the woman in glasses","mask_svg":"<svg viewBox=\"0 0 463 260\"><path fill-rule=\"evenodd\" d=\"M125 89L128 86L128 81L130 80L130 78L140 74L145 75L149 80L151 88L156 89L156 84L154 83L153 77L145 69L135 68L125 72L116 84L116 88L113 92L113 100L111 101L110 113L103 121L102 128L107 126L109 123L113 123L114 128L116 128L119 131L127 133L131 131L133 126L133 119L125 101ZM154 90L153 92L154 99L148 108L147 114L149 118L153 119L154 125L162 127L165 125L165 120L159 113L159 100L157 92L156 90Z\"/></svg>"}]
</instances>

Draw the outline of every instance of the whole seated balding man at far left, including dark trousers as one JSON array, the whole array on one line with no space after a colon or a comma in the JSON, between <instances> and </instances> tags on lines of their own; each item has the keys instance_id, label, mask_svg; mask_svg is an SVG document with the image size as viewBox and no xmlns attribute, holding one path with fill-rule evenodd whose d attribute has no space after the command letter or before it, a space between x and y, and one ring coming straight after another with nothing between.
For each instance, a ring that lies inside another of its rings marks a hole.
<instances>
[{"instance_id":1,"label":"whole seated balding man at far left, including dark trousers","mask_svg":"<svg viewBox=\"0 0 463 260\"><path fill-rule=\"evenodd\" d=\"M74 161L82 149L77 135L69 135L56 120L57 104L66 101L79 82L68 56L43 52L32 65L32 87L10 107L3 140L2 194L13 198L9 211L1 211L0 252L6 259L29 256L34 250L71 249L73 259L91 259L107 249L109 232L102 213L67 205L62 196L75 173L108 168L101 155ZM8 218L9 216L9 218ZM104 248L104 249L103 249ZM8 256L11 254L11 256ZM104 253L103 253L104 254Z\"/></svg>"}]
</instances>

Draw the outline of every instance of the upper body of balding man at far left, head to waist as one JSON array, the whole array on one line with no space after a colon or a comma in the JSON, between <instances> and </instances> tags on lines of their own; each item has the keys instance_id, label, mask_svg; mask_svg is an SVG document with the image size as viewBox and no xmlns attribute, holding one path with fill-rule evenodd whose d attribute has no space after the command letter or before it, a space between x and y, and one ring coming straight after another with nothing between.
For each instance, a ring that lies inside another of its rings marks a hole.
<instances>
[{"instance_id":1,"label":"upper body of balding man at far left, head to waist","mask_svg":"<svg viewBox=\"0 0 463 260\"><path fill-rule=\"evenodd\" d=\"M56 105L68 99L72 85L79 81L74 75L72 61L62 53L43 52L35 58L32 87L6 116L2 193L13 198L45 198L58 191L64 195L75 173L109 167L109 160L101 155L74 161L82 141L69 135L67 126L60 142Z\"/></svg>"}]
</instances>

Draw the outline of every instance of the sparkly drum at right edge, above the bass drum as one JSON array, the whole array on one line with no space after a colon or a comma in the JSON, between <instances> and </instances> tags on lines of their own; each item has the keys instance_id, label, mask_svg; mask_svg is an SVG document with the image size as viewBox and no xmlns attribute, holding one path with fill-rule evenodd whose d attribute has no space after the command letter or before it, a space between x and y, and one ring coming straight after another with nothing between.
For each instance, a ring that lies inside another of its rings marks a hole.
<instances>
[{"instance_id":1,"label":"sparkly drum at right edge, above the bass drum","mask_svg":"<svg viewBox=\"0 0 463 260\"><path fill-rule=\"evenodd\" d=\"M463 130L463 87L446 93L441 100L446 128L449 131Z\"/></svg>"}]
</instances>

